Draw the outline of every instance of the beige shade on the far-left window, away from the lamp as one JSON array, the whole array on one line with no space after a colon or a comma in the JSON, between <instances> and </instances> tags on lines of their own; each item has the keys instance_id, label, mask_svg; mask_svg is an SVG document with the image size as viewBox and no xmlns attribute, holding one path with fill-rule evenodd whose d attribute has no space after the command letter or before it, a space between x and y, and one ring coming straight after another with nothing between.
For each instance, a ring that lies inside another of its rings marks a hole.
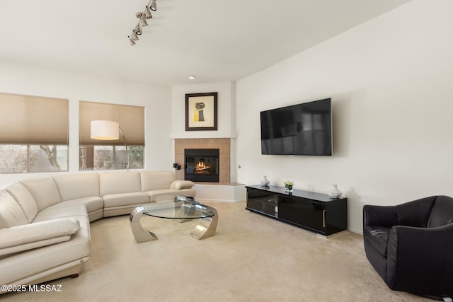
<instances>
[{"instance_id":1,"label":"beige shade on the far-left window, away from the lamp","mask_svg":"<svg viewBox=\"0 0 453 302\"><path fill-rule=\"evenodd\" d=\"M68 144L69 100L0 93L0 144Z\"/></svg>"}]
</instances>

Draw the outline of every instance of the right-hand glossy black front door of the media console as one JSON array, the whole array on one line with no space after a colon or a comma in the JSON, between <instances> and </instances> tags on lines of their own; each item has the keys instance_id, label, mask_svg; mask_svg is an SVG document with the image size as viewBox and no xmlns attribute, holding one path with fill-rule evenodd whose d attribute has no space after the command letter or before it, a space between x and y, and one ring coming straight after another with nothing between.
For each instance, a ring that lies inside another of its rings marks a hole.
<instances>
[{"instance_id":1,"label":"right-hand glossy black front door of the media console","mask_svg":"<svg viewBox=\"0 0 453 302\"><path fill-rule=\"evenodd\" d=\"M278 199L278 216L299 226L326 233L326 205L302 197Z\"/></svg>"}]
</instances>

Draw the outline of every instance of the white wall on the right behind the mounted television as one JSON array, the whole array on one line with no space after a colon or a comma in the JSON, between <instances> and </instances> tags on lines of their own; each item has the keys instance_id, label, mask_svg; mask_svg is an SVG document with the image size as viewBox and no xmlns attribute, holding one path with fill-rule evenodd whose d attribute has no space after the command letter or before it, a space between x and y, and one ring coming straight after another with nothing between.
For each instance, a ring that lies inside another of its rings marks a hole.
<instances>
[{"instance_id":1,"label":"white wall on the right behind the mounted television","mask_svg":"<svg viewBox=\"0 0 453 302\"><path fill-rule=\"evenodd\" d=\"M451 11L453 1L414 0L238 81L238 182L336 183L357 233L363 204L453 196ZM260 154L261 110L329 97L332 157Z\"/></svg>"}]
</instances>

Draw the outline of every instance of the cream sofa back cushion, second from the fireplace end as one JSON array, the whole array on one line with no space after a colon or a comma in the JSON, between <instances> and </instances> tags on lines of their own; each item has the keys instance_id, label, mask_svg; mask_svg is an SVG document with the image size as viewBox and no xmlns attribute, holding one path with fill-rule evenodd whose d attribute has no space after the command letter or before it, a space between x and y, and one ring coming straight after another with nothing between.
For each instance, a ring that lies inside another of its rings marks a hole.
<instances>
[{"instance_id":1,"label":"cream sofa back cushion, second from the fireplace end","mask_svg":"<svg viewBox=\"0 0 453 302\"><path fill-rule=\"evenodd\" d=\"M107 194L142 192L138 172L99 173L99 192Z\"/></svg>"}]
</instances>

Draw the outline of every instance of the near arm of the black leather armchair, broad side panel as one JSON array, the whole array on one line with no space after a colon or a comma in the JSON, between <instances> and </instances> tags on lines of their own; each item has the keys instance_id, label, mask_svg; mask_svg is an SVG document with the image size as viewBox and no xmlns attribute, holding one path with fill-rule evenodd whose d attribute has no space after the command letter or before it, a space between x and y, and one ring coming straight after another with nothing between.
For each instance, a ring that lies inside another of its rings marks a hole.
<instances>
[{"instance_id":1,"label":"near arm of the black leather armchair, broad side panel","mask_svg":"<svg viewBox=\"0 0 453 302\"><path fill-rule=\"evenodd\" d=\"M387 276L391 289L416 288L420 294L448 289L453 271L453 223L437 228L394 226L387 243Z\"/></svg>"}]
</instances>

